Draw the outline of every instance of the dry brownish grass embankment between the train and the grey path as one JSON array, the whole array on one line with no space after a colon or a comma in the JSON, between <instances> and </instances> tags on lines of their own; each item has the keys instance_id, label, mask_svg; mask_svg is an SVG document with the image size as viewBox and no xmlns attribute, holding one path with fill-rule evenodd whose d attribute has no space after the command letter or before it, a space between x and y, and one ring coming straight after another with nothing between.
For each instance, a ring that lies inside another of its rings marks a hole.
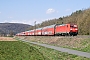
<instances>
[{"instance_id":1,"label":"dry brownish grass embankment between the train and the grey path","mask_svg":"<svg viewBox=\"0 0 90 60\"><path fill-rule=\"evenodd\" d=\"M76 36L76 37L22 36L21 38L29 41L45 43L49 45L70 48L90 53L90 36Z\"/></svg>"}]
</instances>

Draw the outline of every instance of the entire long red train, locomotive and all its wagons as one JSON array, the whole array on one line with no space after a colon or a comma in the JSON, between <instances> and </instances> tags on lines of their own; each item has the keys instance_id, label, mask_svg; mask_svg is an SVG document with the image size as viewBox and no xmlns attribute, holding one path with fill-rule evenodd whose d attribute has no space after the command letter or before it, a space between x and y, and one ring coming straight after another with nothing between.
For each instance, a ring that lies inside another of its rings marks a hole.
<instances>
[{"instance_id":1,"label":"entire long red train, locomotive and all its wagons","mask_svg":"<svg viewBox=\"0 0 90 60\"><path fill-rule=\"evenodd\" d=\"M77 36L77 34L78 26L76 24L54 24L42 28L17 33L16 36Z\"/></svg>"}]
</instances>

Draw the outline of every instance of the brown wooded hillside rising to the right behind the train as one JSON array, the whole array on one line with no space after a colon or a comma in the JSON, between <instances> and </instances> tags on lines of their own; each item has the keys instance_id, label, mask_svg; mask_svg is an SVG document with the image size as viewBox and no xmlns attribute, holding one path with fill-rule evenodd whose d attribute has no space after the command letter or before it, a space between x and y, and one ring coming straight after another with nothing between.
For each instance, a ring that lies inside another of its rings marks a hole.
<instances>
[{"instance_id":1,"label":"brown wooded hillside rising to the right behind the train","mask_svg":"<svg viewBox=\"0 0 90 60\"><path fill-rule=\"evenodd\" d=\"M53 24L77 24L78 33L80 35L90 35L90 8L84 10L77 10L69 16L59 17L58 19L46 20L35 26L31 26L29 29L40 28L44 26L49 26Z\"/></svg>"}]
</instances>

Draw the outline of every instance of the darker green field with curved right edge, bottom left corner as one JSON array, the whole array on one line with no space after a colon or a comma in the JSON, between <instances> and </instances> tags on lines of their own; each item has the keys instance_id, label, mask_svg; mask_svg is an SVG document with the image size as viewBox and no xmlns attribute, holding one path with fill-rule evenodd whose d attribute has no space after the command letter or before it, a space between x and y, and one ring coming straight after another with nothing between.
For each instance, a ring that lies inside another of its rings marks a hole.
<instances>
[{"instance_id":1,"label":"darker green field with curved right edge, bottom left corner","mask_svg":"<svg viewBox=\"0 0 90 60\"><path fill-rule=\"evenodd\" d=\"M44 60L38 49L20 41L0 41L0 60Z\"/></svg>"}]
</instances>

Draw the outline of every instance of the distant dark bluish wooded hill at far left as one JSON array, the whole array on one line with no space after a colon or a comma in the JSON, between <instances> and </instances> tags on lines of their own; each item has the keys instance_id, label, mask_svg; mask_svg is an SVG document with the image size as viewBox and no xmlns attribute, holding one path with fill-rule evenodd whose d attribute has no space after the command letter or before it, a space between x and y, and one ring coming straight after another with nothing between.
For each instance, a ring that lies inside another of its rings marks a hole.
<instances>
[{"instance_id":1,"label":"distant dark bluish wooded hill at far left","mask_svg":"<svg viewBox=\"0 0 90 60\"><path fill-rule=\"evenodd\" d=\"M0 36L15 35L26 31L31 25L21 23L0 23Z\"/></svg>"}]
</instances>

